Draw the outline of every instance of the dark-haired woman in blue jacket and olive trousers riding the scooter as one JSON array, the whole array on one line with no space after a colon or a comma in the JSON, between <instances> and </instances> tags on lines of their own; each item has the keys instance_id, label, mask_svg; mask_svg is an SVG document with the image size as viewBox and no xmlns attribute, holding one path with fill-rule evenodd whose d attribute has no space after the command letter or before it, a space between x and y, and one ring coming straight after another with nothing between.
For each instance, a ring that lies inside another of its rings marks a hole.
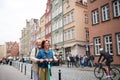
<instances>
[{"instance_id":1,"label":"dark-haired woman in blue jacket and olive trousers riding the scooter","mask_svg":"<svg viewBox=\"0 0 120 80\"><path fill-rule=\"evenodd\" d=\"M38 67L40 73L40 80L49 80L48 75L48 62L52 62L54 60L53 52L49 49L50 42L48 40L42 41L41 44L42 49L39 51L37 58L39 59ZM50 63L51 65L52 63Z\"/></svg>"}]
</instances>

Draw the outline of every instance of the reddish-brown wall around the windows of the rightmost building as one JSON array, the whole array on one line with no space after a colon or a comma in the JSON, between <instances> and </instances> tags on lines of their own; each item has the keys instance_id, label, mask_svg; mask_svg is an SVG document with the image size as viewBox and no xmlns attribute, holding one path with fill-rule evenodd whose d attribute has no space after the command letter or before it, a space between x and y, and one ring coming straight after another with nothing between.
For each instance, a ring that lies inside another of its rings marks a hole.
<instances>
[{"instance_id":1,"label":"reddish-brown wall around the windows of the rightmost building","mask_svg":"<svg viewBox=\"0 0 120 80\"><path fill-rule=\"evenodd\" d=\"M101 21L101 6L109 3L110 6L110 20L106 22ZM104 35L111 34L112 35L112 45L113 45L113 54L114 54L114 64L120 64L120 56L117 56L117 45L116 45L116 38L115 33L120 32L120 17L113 18L113 9L112 9L112 0L96 0L95 2L90 3L88 0L88 17L89 17L89 41L93 43L94 37L101 38L101 45L103 47L103 37ZM92 25L91 19L91 11L94 9L98 9L99 11L99 24ZM94 46L90 47L91 53L94 53ZM97 60L98 57L96 57Z\"/></svg>"}]
</instances>

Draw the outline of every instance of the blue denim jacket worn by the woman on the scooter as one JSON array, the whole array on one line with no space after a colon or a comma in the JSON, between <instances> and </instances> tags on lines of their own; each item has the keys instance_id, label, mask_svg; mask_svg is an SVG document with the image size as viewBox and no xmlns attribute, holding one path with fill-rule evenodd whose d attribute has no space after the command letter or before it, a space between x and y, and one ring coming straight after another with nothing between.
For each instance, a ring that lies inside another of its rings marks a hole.
<instances>
[{"instance_id":1,"label":"blue denim jacket worn by the woman on the scooter","mask_svg":"<svg viewBox=\"0 0 120 80\"><path fill-rule=\"evenodd\" d=\"M45 49L41 49L38 52L38 55L36 56L36 58L38 58L38 59L50 59L50 58L54 59L52 51L48 50L48 53L46 53ZM48 62L40 63L38 61L37 64L38 64L38 67L41 67L41 68L47 68L48 67ZM51 63L51 65L52 65L52 63Z\"/></svg>"}]
</instances>

